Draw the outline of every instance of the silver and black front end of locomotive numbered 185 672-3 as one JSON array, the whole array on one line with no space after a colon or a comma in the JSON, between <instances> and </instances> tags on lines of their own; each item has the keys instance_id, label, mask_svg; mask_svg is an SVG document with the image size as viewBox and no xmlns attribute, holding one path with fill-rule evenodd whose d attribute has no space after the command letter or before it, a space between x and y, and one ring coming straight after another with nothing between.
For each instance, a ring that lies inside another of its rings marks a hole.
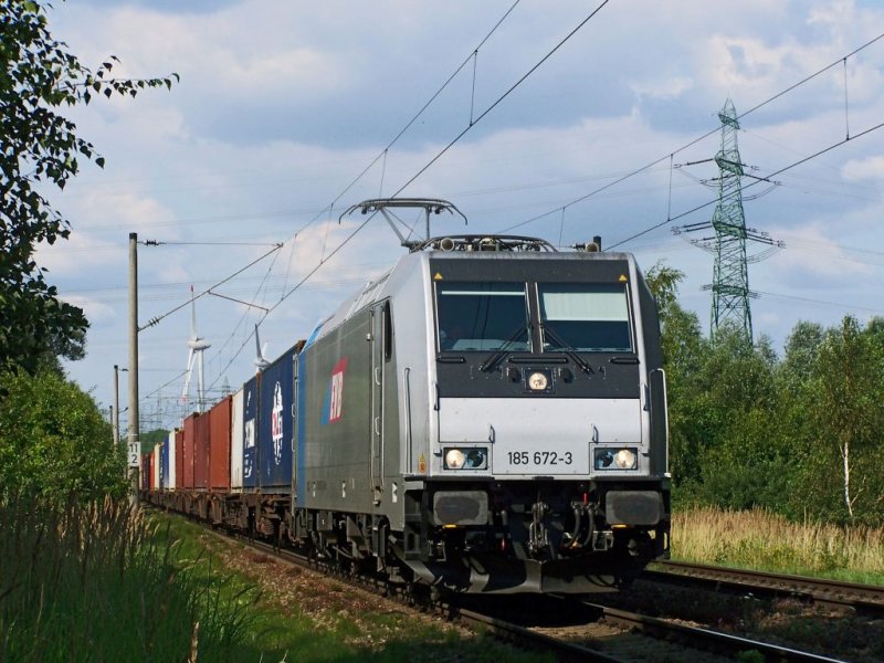
<instances>
[{"instance_id":1,"label":"silver and black front end of locomotive numbered 185 672-3","mask_svg":"<svg viewBox=\"0 0 884 663\"><path fill-rule=\"evenodd\" d=\"M402 557L455 591L617 590L669 554L653 297L629 254L465 245L425 260Z\"/></svg>"}]
</instances>

